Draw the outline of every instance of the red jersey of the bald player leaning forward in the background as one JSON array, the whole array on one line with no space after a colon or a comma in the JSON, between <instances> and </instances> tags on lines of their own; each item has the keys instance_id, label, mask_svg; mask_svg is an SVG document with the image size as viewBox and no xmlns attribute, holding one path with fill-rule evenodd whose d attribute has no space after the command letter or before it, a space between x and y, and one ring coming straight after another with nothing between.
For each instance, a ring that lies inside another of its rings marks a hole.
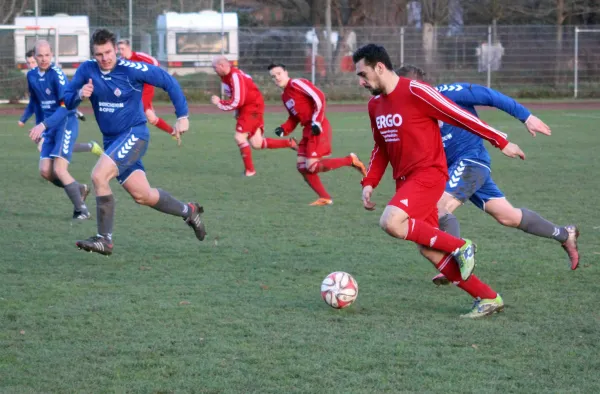
<instances>
[{"instance_id":1,"label":"red jersey of the bald player leaning forward in the background","mask_svg":"<svg viewBox=\"0 0 600 394\"><path fill-rule=\"evenodd\" d=\"M228 100L221 100L217 106L223 111L243 110L244 107L260 107L265 102L252 77L240 69L231 67L229 74L221 77ZM261 109L262 111L262 109Z\"/></svg>"}]
</instances>

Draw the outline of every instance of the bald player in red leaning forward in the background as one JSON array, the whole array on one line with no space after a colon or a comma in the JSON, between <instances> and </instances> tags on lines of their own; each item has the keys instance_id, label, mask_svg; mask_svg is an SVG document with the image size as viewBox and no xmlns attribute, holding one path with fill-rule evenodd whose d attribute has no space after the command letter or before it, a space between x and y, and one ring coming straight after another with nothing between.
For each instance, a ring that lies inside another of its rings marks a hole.
<instances>
[{"instance_id":1,"label":"bald player in red leaning forward in the background","mask_svg":"<svg viewBox=\"0 0 600 394\"><path fill-rule=\"evenodd\" d=\"M250 146L254 149L297 149L298 144L293 138L263 137L265 102L252 77L233 67L225 56L213 60L213 69L221 77L229 99L221 100L219 96L212 96L211 102L222 111L236 111L235 142L240 148L245 176L256 175Z\"/></svg>"}]
</instances>

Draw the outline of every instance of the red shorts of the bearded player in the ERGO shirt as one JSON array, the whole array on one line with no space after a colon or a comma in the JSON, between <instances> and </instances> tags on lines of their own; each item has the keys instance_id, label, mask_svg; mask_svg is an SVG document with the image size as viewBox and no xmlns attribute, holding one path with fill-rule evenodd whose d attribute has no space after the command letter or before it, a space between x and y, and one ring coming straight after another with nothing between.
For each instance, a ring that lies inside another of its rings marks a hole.
<instances>
[{"instance_id":1,"label":"red shorts of the bearded player in the ERGO shirt","mask_svg":"<svg viewBox=\"0 0 600 394\"><path fill-rule=\"evenodd\" d=\"M402 209L412 219L438 227L437 203L446 188L446 175L437 168L416 170L396 179L396 194L388 205Z\"/></svg>"}]
</instances>

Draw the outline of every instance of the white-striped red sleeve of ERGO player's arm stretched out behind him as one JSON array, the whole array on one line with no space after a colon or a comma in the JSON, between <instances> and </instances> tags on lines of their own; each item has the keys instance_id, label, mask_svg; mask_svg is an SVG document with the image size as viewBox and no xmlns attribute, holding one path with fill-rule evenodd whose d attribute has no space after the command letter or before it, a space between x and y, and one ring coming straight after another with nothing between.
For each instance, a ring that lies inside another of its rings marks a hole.
<instances>
[{"instance_id":1,"label":"white-striped red sleeve of ERGO player's arm stretched out behind him","mask_svg":"<svg viewBox=\"0 0 600 394\"><path fill-rule=\"evenodd\" d=\"M499 149L508 145L507 135L489 126L478 117L470 114L448 100L433 87L418 81L410 81L410 92L420 100L420 107L429 116L470 131L488 140Z\"/></svg>"}]
</instances>

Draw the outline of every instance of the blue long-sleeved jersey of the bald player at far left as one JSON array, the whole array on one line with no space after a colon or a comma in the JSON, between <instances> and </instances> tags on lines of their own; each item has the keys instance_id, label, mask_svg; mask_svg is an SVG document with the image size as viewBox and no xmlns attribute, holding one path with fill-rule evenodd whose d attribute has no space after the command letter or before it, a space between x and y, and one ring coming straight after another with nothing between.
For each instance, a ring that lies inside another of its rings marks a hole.
<instances>
[{"instance_id":1,"label":"blue long-sleeved jersey of the bald player at far left","mask_svg":"<svg viewBox=\"0 0 600 394\"><path fill-rule=\"evenodd\" d=\"M46 71L36 67L27 73L29 100L34 107L36 122L43 121L46 129L59 125L67 116L75 116L75 111L67 111L62 103L68 82L62 70L54 65Z\"/></svg>"}]
</instances>

